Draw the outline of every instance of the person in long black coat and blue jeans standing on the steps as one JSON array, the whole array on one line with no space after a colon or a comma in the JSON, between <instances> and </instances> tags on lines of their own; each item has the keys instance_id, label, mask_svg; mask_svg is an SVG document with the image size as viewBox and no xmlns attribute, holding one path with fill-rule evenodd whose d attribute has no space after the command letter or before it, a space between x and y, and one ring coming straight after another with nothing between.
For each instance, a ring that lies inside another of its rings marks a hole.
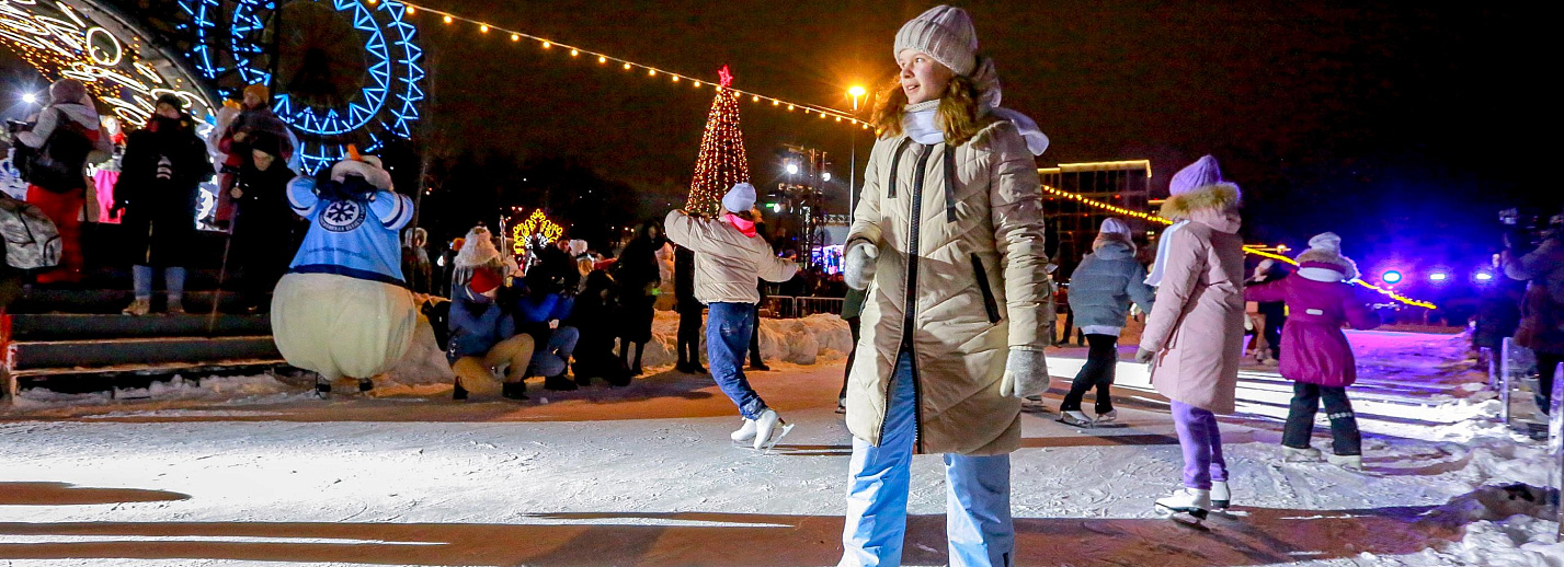
<instances>
[{"instance_id":1,"label":"person in long black coat and blue jeans standing on the steps","mask_svg":"<svg viewBox=\"0 0 1564 567\"><path fill-rule=\"evenodd\" d=\"M169 292L169 314L185 311L185 266L196 236L199 186L213 175L206 144L178 97L158 97L147 127L125 141L125 156L114 184L114 212L122 216L133 266L136 298L125 314L145 316L152 308L153 270L161 269Z\"/></svg>"}]
</instances>

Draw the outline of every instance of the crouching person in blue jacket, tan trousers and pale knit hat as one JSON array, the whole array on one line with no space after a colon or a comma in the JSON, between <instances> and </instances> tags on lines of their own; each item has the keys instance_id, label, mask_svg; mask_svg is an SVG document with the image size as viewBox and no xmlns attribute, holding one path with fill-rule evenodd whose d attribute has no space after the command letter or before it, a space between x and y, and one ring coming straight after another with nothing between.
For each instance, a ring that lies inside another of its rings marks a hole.
<instances>
[{"instance_id":1,"label":"crouching person in blue jacket, tan trousers and pale knit hat","mask_svg":"<svg viewBox=\"0 0 1564 567\"><path fill-rule=\"evenodd\" d=\"M457 373L454 400L468 395L511 400L527 398L527 366L532 364L533 337L516 333L516 320L500 308L497 297L504 278L491 269L477 269L471 281L450 298L450 370ZM505 380L497 381L497 370ZM497 387L496 387L497 386Z\"/></svg>"}]
</instances>

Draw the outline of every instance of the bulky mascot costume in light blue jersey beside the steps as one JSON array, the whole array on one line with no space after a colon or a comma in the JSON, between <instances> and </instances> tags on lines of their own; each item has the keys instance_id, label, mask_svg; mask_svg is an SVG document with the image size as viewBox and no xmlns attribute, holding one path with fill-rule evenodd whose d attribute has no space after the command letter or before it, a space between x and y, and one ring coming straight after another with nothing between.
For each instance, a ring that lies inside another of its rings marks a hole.
<instances>
[{"instance_id":1,"label":"bulky mascot costume in light blue jersey beside the steps","mask_svg":"<svg viewBox=\"0 0 1564 567\"><path fill-rule=\"evenodd\" d=\"M372 387L369 378L396 366L418 325L397 239L413 200L393 192L380 158L352 153L288 184L288 205L310 231L272 292L277 350L319 373L322 394L343 376Z\"/></svg>"}]
</instances>

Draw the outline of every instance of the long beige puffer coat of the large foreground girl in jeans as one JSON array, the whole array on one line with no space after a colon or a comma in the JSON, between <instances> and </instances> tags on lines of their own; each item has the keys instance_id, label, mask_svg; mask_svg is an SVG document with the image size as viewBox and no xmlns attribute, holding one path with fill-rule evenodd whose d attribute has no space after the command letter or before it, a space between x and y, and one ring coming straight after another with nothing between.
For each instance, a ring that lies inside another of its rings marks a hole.
<instances>
[{"instance_id":1,"label":"long beige puffer coat of the large foreground girl in jeans","mask_svg":"<svg viewBox=\"0 0 1564 567\"><path fill-rule=\"evenodd\" d=\"M848 378L848 428L879 445L910 333L915 450L1001 455L1021 440L1020 400L999 395L1006 358L1010 348L1043 350L1053 317L1042 186L1010 122L948 152L898 136L870 153L848 245L868 241L879 261Z\"/></svg>"}]
</instances>

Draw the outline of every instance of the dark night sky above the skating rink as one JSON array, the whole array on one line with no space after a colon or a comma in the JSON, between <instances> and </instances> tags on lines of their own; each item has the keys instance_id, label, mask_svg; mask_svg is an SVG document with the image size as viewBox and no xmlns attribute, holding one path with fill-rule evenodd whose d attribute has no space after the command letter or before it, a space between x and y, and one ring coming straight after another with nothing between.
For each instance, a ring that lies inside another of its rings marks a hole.
<instances>
[{"instance_id":1,"label":"dark night sky above the skating rink","mask_svg":"<svg viewBox=\"0 0 1564 567\"><path fill-rule=\"evenodd\" d=\"M838 108L848 86L893 77L898 27L932 6L430 5L696 77L729 64L738 87ZM1348 255L1451 262L1480 261L1497 244L1500 203L1539 192L1550 169L1550 148L1520 137L1542 125L1542 19L1476 6L963 5L1006 106L1053 139L1040 166L1150 158L1165 191L1178 167L1212 153L1247 189L1251 242L1298 247L1334 230ZM637 186L688 183L712 91L418 17L438 52L433 117L452 152L571 156ZM788 142L832 152L846 177L851 128L769 105L741 112L757 184L776 181L774 150ZM859 131L860 153L868 137Z\"/></svg>"}]
</instances>

